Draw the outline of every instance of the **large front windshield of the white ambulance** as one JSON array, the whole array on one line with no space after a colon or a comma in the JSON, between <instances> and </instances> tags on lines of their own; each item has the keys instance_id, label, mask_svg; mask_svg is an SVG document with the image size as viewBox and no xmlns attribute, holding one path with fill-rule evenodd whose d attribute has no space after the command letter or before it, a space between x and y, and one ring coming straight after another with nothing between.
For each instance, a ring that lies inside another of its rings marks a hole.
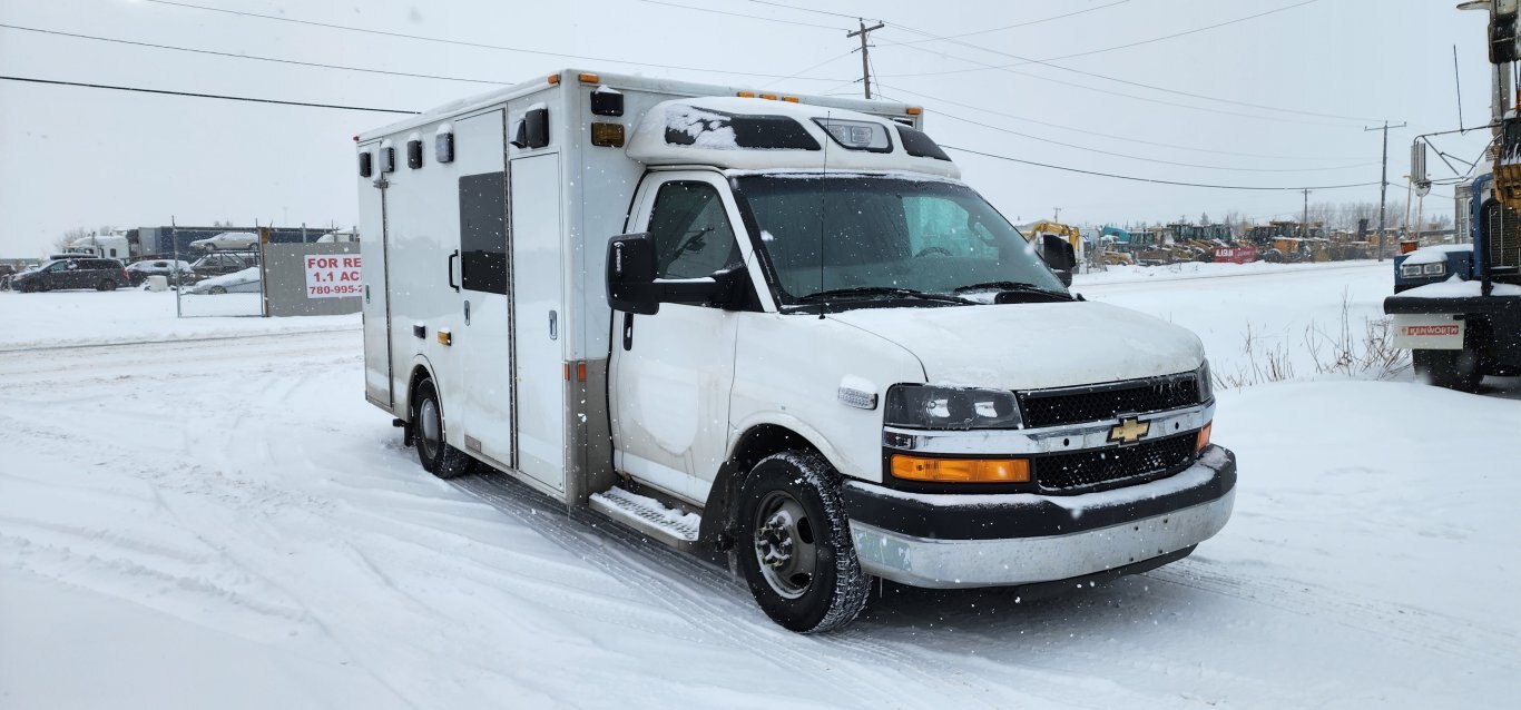
<instances>
[{"instance_id":1,"label":"large front windshield of the white ambulance","mask_svg":"<svg viewBox=\"0 0 1521 710\"><path fill-rule=\"evenodd\" d=\"M850 289L1063 292L1034 249L972 189L881 176L736 179L783 303ZM888 293L891 295L891 293Z\"/></svg>"}]
</instances>

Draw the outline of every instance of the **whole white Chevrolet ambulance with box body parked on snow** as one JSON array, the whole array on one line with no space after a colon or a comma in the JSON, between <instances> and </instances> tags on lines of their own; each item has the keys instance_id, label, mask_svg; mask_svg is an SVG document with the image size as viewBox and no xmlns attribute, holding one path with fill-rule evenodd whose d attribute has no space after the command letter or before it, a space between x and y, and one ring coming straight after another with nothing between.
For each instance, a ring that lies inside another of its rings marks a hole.
<instances>
[{"instance_id":1,"label":"whole white Chevrolet ambulance with box body parked on snow","mask_svg":"<svg viewBox=\"0 0 1521 710\"><path fill-rule=\"evenodd\" d=\"M1235 483L1199 339L1069 295L920 126L566 70L362 134L365 395L794 631L1188 555Z\"/></svg>"}]
</instances>

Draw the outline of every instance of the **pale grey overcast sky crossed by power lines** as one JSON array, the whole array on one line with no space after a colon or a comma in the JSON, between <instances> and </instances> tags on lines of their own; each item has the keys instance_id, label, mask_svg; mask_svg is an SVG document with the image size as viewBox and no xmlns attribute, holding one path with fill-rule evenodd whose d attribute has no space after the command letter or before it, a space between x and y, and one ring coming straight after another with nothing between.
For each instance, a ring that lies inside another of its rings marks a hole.
<instances>
[{"instance_id":1,"label":"pale grey overcast sky crossed by power lines","mask_svg":"<svg viewBox=\"0 0 1521 710\"><path fill-rule=\"evenodd\" d=\"M838 12L887 23L872 35L881 93L922 103L940 143L1080 170L1224 185L1377 182L1380 134L1363 128L1389 119L1410 125L1390 134L1392 198L1402 198L1411 137L1459 128L1454 44L1463 117L1474 126L1489 116L1486 17L1459 12L1451 0L183 2L532 52L151 0L0 0L0 24L8 26L478 82L9 27L0 27L0 74L395 109L427 109L491 88L481 82L510 84L563 67L858 93L852 79L859 79L861 61L849 53L855 40L844 36L855 23L829 14ZM1234 20L1243 21L1203 29ZM1024 26L984 32L1015 24ZM972 35L925 41L964 33ZM1133 43L1142 44L1112 49ZM1078 53L1088 55L1068 58ZM989 68L1021 59L1053 61ZM779 79L786 76L794 78ZM33 257L73 227L353 223L351 137L394 119L0 81L0 257ZM1472 161L1488 138L1437 138L1437 147ZM1078 223L1220 217L1229 210L1265 220L1297 214L1303 201L1299 192L1154 185L969 154L952 158L1015 220L1049 217L1056 208ZM1451 175L1434 155L1430 164L1434 175ZM1442 198L1428 198L1427 211L1451 213L1443 199L1451 187L1436 195ZM1378 187L1320 190L1310 199L1377 201Z\"/></svg>"}]
</instances>

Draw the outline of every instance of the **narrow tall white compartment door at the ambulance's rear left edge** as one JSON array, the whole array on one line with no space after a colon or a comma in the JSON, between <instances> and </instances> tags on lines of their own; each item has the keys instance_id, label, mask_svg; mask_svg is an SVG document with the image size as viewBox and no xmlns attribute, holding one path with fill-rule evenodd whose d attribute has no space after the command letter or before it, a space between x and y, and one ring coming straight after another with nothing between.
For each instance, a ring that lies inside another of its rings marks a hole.
<instances>
[{"instance_id":1,"label":"narrow tall white compartment door at the ambulance's rear left edge","mask_svg":"<svg viewBox=\"0 0 1521 710\"><path fill-rule=\"evenodd\" d=\"M367 230L359 240L360 278L365 292L360 312L365 324L365 398L391 409L391 278L386 260L385 187L360 178L359 223ZM374 181L383 185L383 181Z\"/></svg>"}]
</instances>

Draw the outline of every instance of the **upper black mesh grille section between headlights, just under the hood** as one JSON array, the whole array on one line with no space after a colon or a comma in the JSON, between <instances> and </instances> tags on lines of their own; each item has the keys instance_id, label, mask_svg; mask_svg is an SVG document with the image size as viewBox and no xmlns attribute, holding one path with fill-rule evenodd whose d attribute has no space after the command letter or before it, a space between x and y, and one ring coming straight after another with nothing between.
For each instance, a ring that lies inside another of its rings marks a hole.
<instances>
[{"instance_id":1,"label":"upper black mesh grille section between headlights, just under the hood","mask_svg":"<svg viewBox=\"0 0 1521 710\"><path fill-rule=\"evenodd\" d=\"M1018 392L1027 429L1113 420L1199 404L1199 374Z\"/></svg>"}]
</instances>

